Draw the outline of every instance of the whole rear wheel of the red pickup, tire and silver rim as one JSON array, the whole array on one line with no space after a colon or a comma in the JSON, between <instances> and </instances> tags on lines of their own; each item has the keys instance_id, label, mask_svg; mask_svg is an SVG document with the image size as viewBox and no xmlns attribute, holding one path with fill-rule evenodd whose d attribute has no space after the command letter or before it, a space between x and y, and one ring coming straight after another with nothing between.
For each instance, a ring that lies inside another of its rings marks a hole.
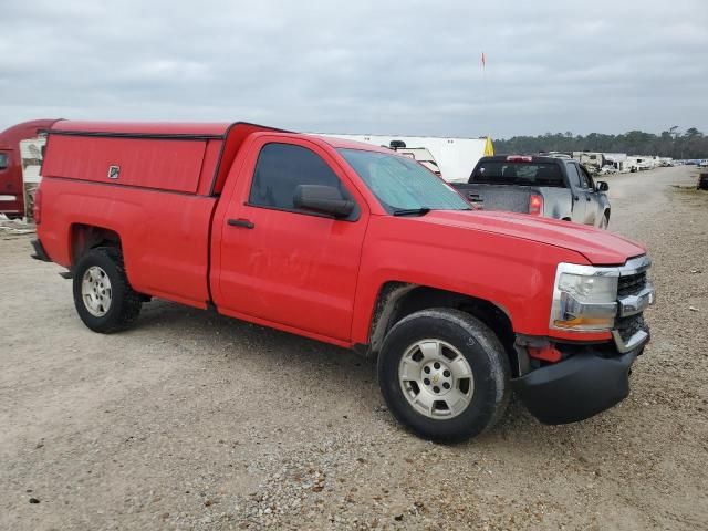
<instances>
[{"instance_id":1,"label":"whole rear wheel of the red pickup, tire and silver rim","mask_svg":"<svg viewBox=\"0 0 708 531\"><path fill-rule=\"evenodd\" d=\"M115 248L101 247L84 254L74 270L73 289L76 312L94 332L125 330L140 313L143 300L131 287Z\"/></svg>"}]
</instances>

